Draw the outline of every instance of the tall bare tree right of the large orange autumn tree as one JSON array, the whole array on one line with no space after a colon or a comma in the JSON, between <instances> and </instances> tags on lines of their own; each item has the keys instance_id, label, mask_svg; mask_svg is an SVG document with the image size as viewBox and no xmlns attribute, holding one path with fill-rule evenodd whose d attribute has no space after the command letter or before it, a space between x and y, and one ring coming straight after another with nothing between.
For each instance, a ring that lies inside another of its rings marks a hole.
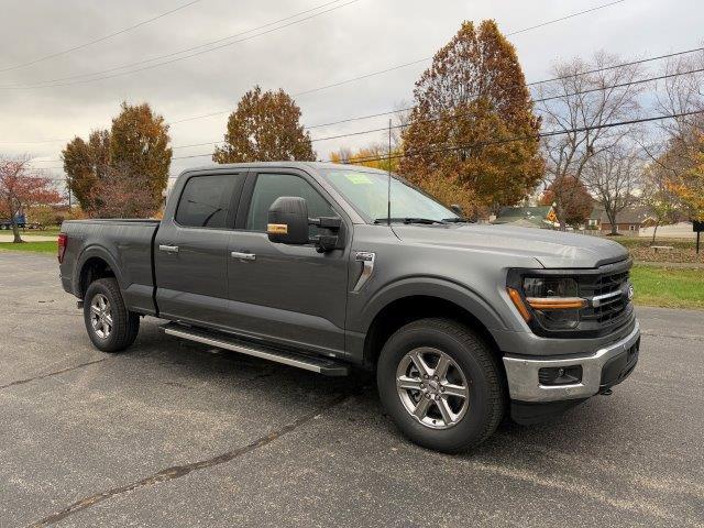
<instances>
[{"instance_id":1,"label":"tall bare tree right of the large orange autumn tree","mask_svg":"<svg viewBox=\"0 0 704 528\"><path fill-rule=\"evenodd\" d=\"M552 73L556 80L539 86L536 101L544 128L558 132L543 138L547 179L573 177L579 182L590 160L634 133L632 127L601 127L638 116L644 85L631 82L641 67L623 65L619 57L598 52L591 62L558 63ZM565 211L559 196L556 213L564 229Z\"/></svg>"}]
</instances>

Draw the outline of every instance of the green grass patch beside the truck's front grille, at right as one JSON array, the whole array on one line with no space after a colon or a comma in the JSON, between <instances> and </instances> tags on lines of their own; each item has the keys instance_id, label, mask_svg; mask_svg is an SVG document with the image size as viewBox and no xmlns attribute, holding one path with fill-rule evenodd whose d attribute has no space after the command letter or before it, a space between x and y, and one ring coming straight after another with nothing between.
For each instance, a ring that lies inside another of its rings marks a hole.
<instances>
[{"instance_id":1,"label":"green grass patch beside the truck's front grille, at right","mask_svg":"<svg viewBox=\"0 0 704 528\"><path fill-rule=\"evenodd\" d=\"M704 270L634 266L637 305L704 310Z\"/></svg>"}]
</instances>

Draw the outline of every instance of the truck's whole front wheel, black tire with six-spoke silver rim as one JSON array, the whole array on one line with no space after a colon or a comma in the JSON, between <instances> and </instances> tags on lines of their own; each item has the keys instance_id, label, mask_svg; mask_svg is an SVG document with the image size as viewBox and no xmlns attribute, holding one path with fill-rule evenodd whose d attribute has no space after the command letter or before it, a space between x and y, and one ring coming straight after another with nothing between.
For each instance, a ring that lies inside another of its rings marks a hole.
<instances>
[{"instance_id":1,"label":"truck's whole front wheel, black tire with six-spoke silver rim","mask_svg":"<svg viewBox=\"0 0 704 528\"><path fill-rule=\"evenodd\" d=\"M402 327L377 364L382 404L419 446L449 453L488 438L504 416L505 391L490 348L448 319Z\"/></svg>"}]
</instances>

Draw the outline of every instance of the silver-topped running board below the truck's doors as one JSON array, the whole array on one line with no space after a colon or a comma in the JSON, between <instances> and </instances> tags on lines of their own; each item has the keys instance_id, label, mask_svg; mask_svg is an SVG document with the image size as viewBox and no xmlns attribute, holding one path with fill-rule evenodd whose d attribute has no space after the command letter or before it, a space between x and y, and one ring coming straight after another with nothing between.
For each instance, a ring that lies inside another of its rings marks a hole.
<instances>
[{"instance_id":1,"label":"silver-topped running board below the truck's doors","mask_svg":"<svg viewBox=\"0 0 704 528\"><path fill-rule=\"evenodd\" d=\"M346 376L350 369L344 363L324 358L309 356L297 352L284 351L273 346L239 340L221 333L208 332L191 327L186 327L175 322L169 322L160 327L164 333L176 338L187 339L197 343L217 346L218 349L231 350L241 354L262 358L263 360L283 363L305 371L317 372L326 376Z\"/></svg>"}]
</instances>

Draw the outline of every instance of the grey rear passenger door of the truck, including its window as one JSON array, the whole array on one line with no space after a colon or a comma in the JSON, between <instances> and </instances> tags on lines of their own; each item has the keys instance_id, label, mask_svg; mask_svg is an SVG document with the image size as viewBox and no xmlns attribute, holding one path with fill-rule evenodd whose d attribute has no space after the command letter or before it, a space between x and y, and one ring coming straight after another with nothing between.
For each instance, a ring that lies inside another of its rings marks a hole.
<instances>
[{"instance_id":1,"label":"grey rear passenger door of the truck, including its window","mask_svg":"<svg viewBox=\"0 0 704 528\"><path fill-rule=\"evenodd\" d=\"M178 183L154 242L162 317L227 327L228 244L246 170L196 173Z\"/></svg>"}]
</instances>

